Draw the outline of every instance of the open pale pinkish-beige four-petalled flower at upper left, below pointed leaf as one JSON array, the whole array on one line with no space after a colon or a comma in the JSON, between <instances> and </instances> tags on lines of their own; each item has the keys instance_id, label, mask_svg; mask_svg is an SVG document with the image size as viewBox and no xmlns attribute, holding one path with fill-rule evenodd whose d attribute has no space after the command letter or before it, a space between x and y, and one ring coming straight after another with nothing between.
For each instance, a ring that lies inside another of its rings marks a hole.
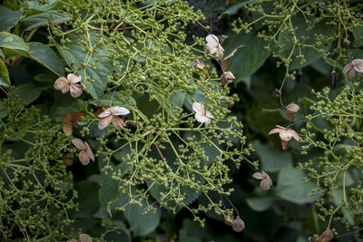
<instances>
[{"instance_id":1,"label":"open pale pinkish-beige four-petalled flower at upper left, below pointed leaf","mask_svg":"<svg viewBox=\"0 0 363 242\"><path fill-rule=\"evenodd\" d=\"M82 76L69 73L67 75L67 79L65 79L64 76L61 76L55 80L54 88L62 91L63 93L69 91L74 98L78 98L83 92L81 84L77 84L77 82L81 82L81 79Z\"/></svg>"}]
</instances>

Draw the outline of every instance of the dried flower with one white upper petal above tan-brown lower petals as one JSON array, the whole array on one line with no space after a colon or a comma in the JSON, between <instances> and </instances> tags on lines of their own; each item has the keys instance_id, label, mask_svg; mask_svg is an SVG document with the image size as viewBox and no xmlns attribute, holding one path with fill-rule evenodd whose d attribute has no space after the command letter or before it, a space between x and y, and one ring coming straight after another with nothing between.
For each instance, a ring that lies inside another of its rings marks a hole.
<instances>
[{"instance_id":1,"label":"dried flower with one white upper petal above tan-brown lower petals","mask_svg":"<svg viewBox=\"0 0 363 242\"><path fill-rule=\"evenodd\" d=\"M98 128L103 130L110 124L111 121L113 121L113 127L116 130L121 130L123 129L123 119L117 117L117 115L126 115L129 113L130 111L128 109L119 106L108 108L98 115L98 118L101 119L98 122Z\"/></svg>"}]
</instances>

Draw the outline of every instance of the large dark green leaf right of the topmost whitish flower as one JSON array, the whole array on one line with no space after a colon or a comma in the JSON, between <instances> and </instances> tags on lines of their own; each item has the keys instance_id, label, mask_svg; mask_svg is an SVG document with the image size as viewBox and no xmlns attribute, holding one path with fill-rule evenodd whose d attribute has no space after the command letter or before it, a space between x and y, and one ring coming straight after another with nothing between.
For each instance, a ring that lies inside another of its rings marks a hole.
<instances>
[{"instance_id":1,"label":"large dark green leaf right of the topmost whitish flower","mask_svg":"<svg viewBox=\"0 0 363 242\"><path fill-rule=\"evenodd\" d=\"M231 71L236 77L236 82L249 77L259 70L270 56L270 51L265 50L266 43L255 34L231 34L223 44L226 48L225 53L231 53L237 46L246 45L234 54L230 60L227 71Z\"/></svg>"}]
</instances>

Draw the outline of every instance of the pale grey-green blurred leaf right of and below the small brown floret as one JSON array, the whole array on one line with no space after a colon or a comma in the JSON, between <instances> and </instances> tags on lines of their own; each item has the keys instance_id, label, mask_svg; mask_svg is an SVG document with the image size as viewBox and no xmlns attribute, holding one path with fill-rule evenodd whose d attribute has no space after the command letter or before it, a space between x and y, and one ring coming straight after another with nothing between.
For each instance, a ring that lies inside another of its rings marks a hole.
<instances>
[{"instance_id":1,"label":"pale grey-green blurred leaf right of and below the small brown floret","mask_svg":"<svg viewBox=\"0 0 363 242\"><path fill-rule=\"evenodd\" d=\"M276 195L297 204L315 201L320 196L310 196L310 193L316 187L316 184L311 181L303 181L304 177L305 174L301 170L284 167L280 170Z\"/></svg>"}]
</instances>

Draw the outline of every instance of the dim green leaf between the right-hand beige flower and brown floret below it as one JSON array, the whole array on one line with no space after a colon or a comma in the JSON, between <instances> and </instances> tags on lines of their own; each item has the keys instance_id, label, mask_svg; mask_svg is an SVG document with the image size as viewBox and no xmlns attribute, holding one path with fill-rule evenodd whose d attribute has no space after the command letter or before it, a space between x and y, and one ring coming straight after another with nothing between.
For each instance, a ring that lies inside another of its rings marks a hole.
<instances>
[{"instance_id":1,"label":"dim green leaf between the right-hand beige flower and brown floret below it","mask_svg":"<svg viewBox=\"0 0 363 242\"><path fill-rule=\"evenodd\" d=\"M262 169L276 172L287 164L292 164L292 156L289 152L280 151L262 144L260 140L253 141L253 147L260 156Z\"/></svg>"}]
</instances>

